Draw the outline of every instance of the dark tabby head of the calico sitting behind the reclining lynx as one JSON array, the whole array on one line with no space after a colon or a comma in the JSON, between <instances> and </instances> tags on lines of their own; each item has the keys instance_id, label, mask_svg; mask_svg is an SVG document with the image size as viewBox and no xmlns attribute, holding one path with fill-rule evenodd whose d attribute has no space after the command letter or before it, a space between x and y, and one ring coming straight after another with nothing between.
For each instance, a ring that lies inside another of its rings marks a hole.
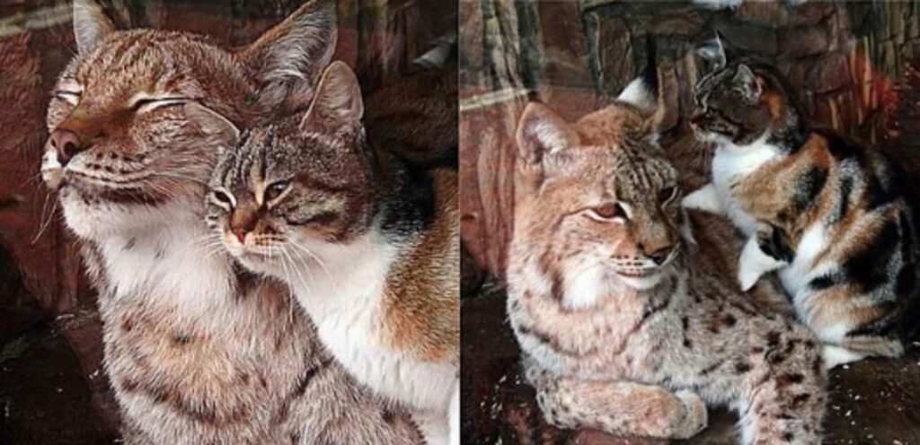
<instances>
[{"instance_id":1,"label":"dark tabby head of the calico sitting behind the reclining lynx","mask_svg":"<svg viewBox=\"0 0 920 445\"><path fill-rule=\"evenodd\" d=\"M764 63L733 60L718 35L697 54L710 67L696 84L697 110L690 119L700 139L742 147L799 131L799 108L776 70Z\"/></svg>"}]
</instances>

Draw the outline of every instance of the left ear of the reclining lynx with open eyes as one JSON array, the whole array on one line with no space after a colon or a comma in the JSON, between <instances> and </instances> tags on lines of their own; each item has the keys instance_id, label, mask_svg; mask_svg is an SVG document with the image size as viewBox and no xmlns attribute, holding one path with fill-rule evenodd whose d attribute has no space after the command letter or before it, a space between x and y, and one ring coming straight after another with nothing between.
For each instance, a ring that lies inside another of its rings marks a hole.
<instances>
[{"instance_id":1,"label":"left ear of the reclining lynx with open eyes","mask_svg":"<svg viewBox=\"0 0 920 445\"><path fill-rule=\"evenodd\" d=\"M518 120L518 154L530 165L542 164L547 154L559 153L580 142L566 120L540 102L531 102Z\"/></svg>"}]
</instances>

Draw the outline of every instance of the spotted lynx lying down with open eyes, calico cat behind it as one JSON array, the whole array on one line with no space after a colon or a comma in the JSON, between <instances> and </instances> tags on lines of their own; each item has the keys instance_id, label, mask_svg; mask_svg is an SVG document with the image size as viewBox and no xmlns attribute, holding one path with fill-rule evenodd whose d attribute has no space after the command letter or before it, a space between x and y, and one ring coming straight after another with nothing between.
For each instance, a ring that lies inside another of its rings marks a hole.
<instances>
[{"instance_id":1,"label":"spotted lynx lying down with open eyes, calico cat behind it","mask_svg":"<svg viewBox=\"0 0 920 445\"><path fill-rule=\"evenodd\" d=\"M518 125L507 310L546 420L684 439L728 405L744 444L818 443L819 342L766 284L737 290L730 225L684 211L634 105Z\"/></svg>"}]
</instances>

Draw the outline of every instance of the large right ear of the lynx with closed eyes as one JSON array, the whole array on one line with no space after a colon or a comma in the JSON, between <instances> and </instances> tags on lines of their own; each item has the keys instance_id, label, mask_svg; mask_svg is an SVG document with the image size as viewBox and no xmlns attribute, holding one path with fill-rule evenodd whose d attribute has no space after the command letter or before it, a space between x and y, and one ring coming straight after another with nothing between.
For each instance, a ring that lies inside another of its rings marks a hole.
<instances>
[{"instance_id":1,"label":"large right ear of the lynx with closed eyes","mask_svg":"<svg viewBox=\"0 0 920 445\"><path fill-rule=\"evenodd\" d=\"M259 101L288 111L305 108L338 39L336 5L312 0L242 51L259 80Z\"/></svg>"}]
</instances>

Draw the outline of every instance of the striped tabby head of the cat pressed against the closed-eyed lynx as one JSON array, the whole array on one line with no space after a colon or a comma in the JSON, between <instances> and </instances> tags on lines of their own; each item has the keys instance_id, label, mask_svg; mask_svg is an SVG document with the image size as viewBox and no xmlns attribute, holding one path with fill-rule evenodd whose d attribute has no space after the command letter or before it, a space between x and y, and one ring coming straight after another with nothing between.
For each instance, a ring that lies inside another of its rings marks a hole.
<instances>
[{"instance_id":1,"label":"striped tabby head of the cat pressed against the closed-eyed lynx","mask_svg":"<svg viewBox=\"0 0 920 445\"><path fill-rule=\"evenodd\" d=\"M366 232L375 175L362 114L357 79L334 62L303 116L247 131L222 154L206 220L245 266L277 271L276 261L304 260Z\"/></svg>"}]
</instances>

